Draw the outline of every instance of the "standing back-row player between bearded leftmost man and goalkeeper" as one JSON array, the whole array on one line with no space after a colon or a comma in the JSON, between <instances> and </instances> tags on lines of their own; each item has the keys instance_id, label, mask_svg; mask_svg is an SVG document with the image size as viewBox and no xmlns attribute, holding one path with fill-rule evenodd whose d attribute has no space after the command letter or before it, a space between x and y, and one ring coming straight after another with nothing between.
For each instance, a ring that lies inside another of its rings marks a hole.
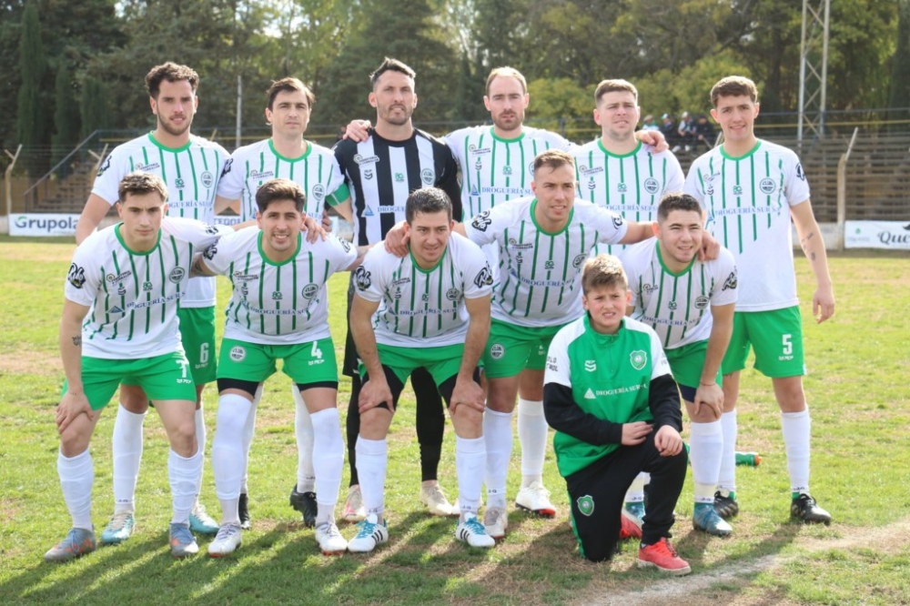
<instances>
[{"instance_id":1,"label":"standing back-row player between bearded leftmost man and goalkeeper","mask_svg":"<svg viewBox=\"0 0 910 606\"><path fill-rule=\"evenodd\" d=\"M218 198L232 206L238 204L240 220L255 222L258 207L256 192L274 178L287 178L303 188L306 206L303 213L317 221L326 205L334 207L341 217L352 220L350 194L344 175L332 151L304 138L316 97L297 78L286 77L269 86L266 121L272 136L249 146L238 147L228 160L218 183ZM290 492L290 504L298 510L306 526L316 523L316 477L313 470L313 423L300 390L291 386L295 402L295 434L298 443L297 483ZM258 400L256 400L258 402ZM244 431L244 448L249 451L253 439L257 406L248 416ZM243 528L249 528L247 476L240 484L239 516Z\"/></svg>"}]
</instances>

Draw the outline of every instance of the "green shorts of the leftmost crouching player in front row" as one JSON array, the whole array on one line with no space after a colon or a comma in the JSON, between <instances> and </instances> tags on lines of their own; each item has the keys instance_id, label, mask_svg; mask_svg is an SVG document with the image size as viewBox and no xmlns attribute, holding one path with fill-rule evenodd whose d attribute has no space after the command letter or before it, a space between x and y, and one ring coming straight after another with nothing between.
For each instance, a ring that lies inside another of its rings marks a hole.
<instances>
[{"instance_id":1,"label":"green shorts of the leftmost crouching player in front row","mask_svg":"<svg viewBox=\"0 0 910 606\"><path fill-rule=\"evenodd\" d=\"M196 384L182 351L140 359L82 357L82 388L93 410L106 407L120 383L138 385L156 401L186 399L196 403ZM63 393L66 389L65 381Z\"/></svg>"}]
</instances>

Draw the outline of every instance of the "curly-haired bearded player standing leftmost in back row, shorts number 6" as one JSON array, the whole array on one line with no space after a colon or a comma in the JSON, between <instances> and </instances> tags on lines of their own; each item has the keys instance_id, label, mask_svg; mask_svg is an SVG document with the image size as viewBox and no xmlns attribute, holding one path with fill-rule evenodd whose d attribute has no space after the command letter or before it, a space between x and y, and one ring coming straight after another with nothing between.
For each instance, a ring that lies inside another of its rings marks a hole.
<instances>
[{"instance_id":1,"label":"curly-haired bearded player standing leftmost in back row, shorts number 6","mask_svg":"<svg viewBox=\"0 0 910 606\"><path fill-rule=\"evenodd\" d=\"M199 76L187 66L166 63L146 76L148 102L157 126L147 135L116 146L101 165L95 187L76 225L76 243L88 237L117 199L120 180L134 170L161 177L167 184L169 217L190 217L214 223L218 177L227 162L224 147L191 136L196 114ZM202 390L215 380L215 278L193 278L178 309L183 348L196 385L196 430L199 449L205 452L206 424ZM136 385L120 388L120 406L114 423L114 515L101 533L102 543L129 538L135 522L136 479L142 459L142 425L148 409L147 394ZM201 485L201 478L199 481ZM190 514L196 532L214 534L217 523L198 499Z\"/></svg>"}]
</instances>

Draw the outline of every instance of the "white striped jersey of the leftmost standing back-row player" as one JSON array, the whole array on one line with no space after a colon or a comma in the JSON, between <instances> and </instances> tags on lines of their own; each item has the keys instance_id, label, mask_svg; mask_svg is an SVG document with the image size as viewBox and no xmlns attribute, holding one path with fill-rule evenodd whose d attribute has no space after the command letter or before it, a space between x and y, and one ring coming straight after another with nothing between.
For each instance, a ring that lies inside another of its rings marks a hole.
<instances>
[{"instance_id":1,"label":"white striped jersey of the leftmost standing back-row player","mask_svg":"<svg viewBox=\"0 0 910 606\"><path fill-rule=\"evenodd\" d=\"M116 146L95 178L92 193L114 206L120 181L131 172L152 173L167 184L167 216L195 218L215 223L215 194L227 150L198 136L187 145L161 145L151 133ZM180 301L184 308L215 305L215 278L193 278Z\"/></svg>"}]
</instances>

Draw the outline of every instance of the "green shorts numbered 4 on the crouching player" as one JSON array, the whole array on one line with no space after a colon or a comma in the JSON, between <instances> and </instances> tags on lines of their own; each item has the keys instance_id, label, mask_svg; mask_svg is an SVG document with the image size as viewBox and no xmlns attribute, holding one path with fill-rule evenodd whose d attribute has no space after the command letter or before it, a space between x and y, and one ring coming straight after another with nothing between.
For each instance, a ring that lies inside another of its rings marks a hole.
<instances>
[{"instance_id":1,"label":"green shorts numbered 4 on the crouching player","mask_svg":"<svg viewBox=\"0 0 910 606\"><path fill-rule=\"evenodd\" d=\"M261 383L275 374L276 360L283 359L281 371L295 383L337 383L339 380L331 337L288 345L260 345L223 338L218 357L218 379Z\"/></svg>"}]
</instances>

